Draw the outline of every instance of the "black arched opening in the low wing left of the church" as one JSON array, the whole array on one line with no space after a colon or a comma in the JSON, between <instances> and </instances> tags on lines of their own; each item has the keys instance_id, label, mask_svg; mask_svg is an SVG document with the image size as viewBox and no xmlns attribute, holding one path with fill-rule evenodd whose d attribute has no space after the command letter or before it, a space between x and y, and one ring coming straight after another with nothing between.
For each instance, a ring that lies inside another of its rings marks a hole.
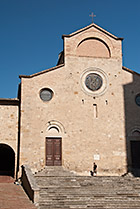
<instances>
[{"instance_id":1,"label":"black arched opening in the low wing left of the church","mask_svg":"<svg viewBox=\"0 0 140 209\"><path fill-rule=\"evenodd\" d=\"M6 145L0 144L0 175L14 177L15 152Z\"/></svg>"}]
</instances>

